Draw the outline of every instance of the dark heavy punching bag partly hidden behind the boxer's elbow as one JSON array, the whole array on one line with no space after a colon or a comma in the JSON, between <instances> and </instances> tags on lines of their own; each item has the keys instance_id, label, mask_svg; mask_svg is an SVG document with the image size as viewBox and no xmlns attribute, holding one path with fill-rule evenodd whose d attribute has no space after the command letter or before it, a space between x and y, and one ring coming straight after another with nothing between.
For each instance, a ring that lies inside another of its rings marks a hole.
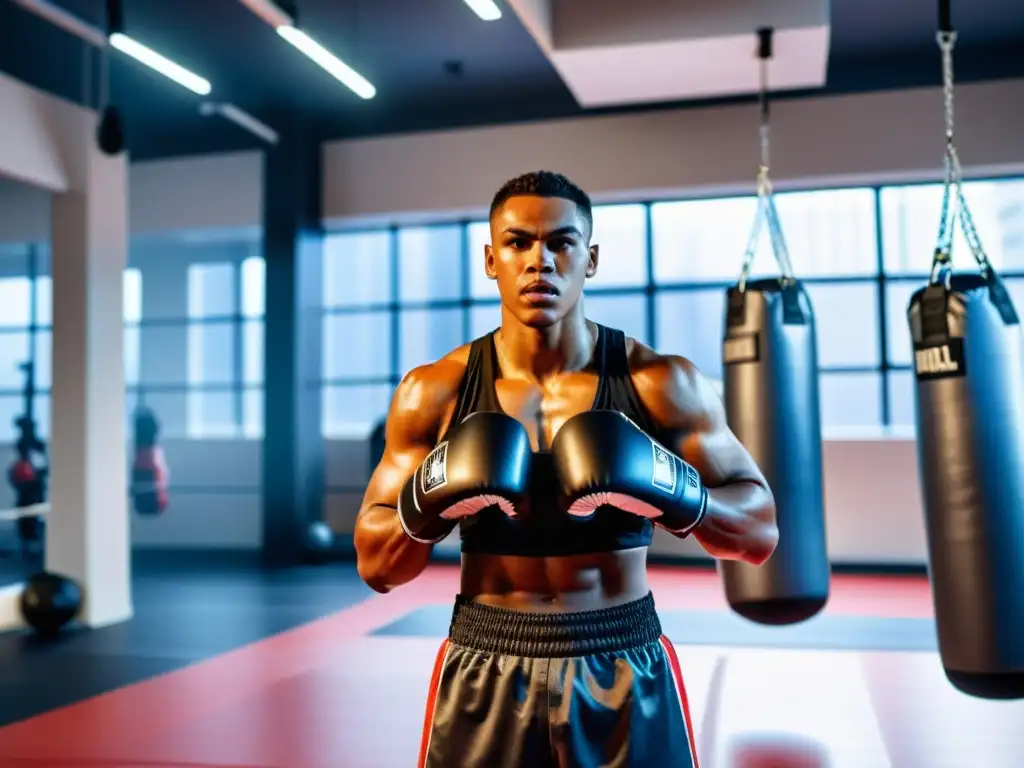
<instances>
[{"instance_id":1,"label":"dark heavy punching bag partly hidden behind the boxer's elbow","mask_svg":"<svg viewBox=\"0 0 1024 768\"><path fill-rule=\"evenodd\" d=\"M798 281L729 289L726 414L775 496L779 540L763 565L720 567L729 605L758 624L797 624L828 601L816 344L814 311Z\"/></svg>"}]
</instances>

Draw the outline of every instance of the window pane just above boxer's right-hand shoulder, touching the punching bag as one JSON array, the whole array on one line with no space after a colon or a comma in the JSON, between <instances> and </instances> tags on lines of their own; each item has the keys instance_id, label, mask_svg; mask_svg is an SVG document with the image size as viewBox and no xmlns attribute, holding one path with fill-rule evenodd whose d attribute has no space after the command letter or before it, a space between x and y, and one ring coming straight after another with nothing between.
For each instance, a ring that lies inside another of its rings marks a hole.
<instances>
[{"instance_id":1,"label":"window pane just above boxer's right-hand shoulder, touching the punching bag","mask_svg":"<svg viewBox=\"0 0 1024 768\"><path fill-rule=\"evenodd\" d=\"M681 354L709 379L722 378L725 290L663 291L654 297L654 344Z\"/></svg>"}]
</instances>

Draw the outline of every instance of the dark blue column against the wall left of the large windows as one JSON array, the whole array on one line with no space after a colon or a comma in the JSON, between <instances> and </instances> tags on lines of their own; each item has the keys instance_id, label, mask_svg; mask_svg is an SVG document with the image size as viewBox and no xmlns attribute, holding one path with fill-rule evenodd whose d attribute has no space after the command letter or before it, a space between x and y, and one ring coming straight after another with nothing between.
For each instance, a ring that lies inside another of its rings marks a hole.
<instances>
[{"instance_id":1,"label":"dark blue column against the wall left of the large windows","mask_svg":"<svg viewBox=\"0 0 1024 768\"><path fill-rule=\"evenodd\" d=\"M281 141L267 150L263 173L263 558L284 566L301 559L306 527L323 517L324 233L319 141L287 118L274 127Z\"/></svg>"}]
</instances>

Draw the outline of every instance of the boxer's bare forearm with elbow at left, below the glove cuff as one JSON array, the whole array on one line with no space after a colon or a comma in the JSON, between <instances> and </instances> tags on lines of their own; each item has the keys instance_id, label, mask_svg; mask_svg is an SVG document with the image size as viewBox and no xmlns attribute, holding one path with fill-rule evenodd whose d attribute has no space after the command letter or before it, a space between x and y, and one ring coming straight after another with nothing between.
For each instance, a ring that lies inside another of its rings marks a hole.
<instances>
[{"instance_id":1,"label":"boxer's bare forearm with elbow at left, below the glove cuff","mask_svg":"<svg viewBox=\"0 0 1024 768\"><path fill-rule=\"evenodd\" d=\"M374 505L359 512L355 524L355 558L359 578L376 592L390 592L423 572L432 544L411 539L394 507Z\"/></svg>"}]
</instances>

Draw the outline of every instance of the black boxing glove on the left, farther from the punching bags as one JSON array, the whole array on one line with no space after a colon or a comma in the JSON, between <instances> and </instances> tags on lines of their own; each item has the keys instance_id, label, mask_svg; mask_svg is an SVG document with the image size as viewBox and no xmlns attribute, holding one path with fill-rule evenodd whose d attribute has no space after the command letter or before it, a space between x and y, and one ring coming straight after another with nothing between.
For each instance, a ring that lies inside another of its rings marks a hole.
<instances>
[{"instance_id":1,"label":"black boxing glove on the left, farther from the punching bags","mask_svg":"<svg viewBox=\"0 0 1024 768\"><path fill-rule=\"evenodd\" d=\"M446 537L463 517L499 506L510 517L529 487L532 454L522 424L476 413L449 432L409 478L398 498L406 534L423 544Z\"/></svg>"}]
</instances>

